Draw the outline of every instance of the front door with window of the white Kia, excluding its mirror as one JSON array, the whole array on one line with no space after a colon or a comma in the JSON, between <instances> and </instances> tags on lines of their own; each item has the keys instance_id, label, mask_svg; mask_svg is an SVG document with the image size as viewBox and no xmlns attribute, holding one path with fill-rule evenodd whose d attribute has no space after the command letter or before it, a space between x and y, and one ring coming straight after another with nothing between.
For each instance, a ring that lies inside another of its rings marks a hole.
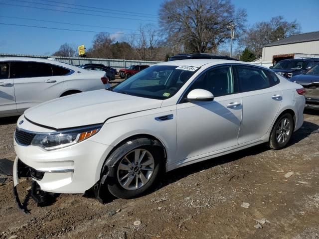
<instances>
[{"instance_id":1,"label":"front door with window of the white Kia, excluding its mirror","mask_svg":"<svg viewBox=\"0 0 319 239\"><path fill-rule=\"evenodd\" d=\"M208 69L191 85L214 95L211 102L177 104L177 161L180 163L209 156L210 153L236 146L241 123L242 102L231 66Z\"/></svg>"}]
</instances>

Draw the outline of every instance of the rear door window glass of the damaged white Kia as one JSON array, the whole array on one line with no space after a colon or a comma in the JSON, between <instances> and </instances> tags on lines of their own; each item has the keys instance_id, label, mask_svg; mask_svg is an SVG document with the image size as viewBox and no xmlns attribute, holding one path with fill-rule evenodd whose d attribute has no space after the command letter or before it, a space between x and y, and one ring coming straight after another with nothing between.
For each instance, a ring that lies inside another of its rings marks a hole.
<instances>
[{"instance_id":1,"label":"rear door window glass of the damaged white Kia","mask_svg":"<svg viewBox=\"0 0 319 239\"><path fill-rule=\"evenodd\" d=\"M256 91L271 87L266 72L257 67L236 66L239 80L239 91Z\"/></svg>"}]
</instances>

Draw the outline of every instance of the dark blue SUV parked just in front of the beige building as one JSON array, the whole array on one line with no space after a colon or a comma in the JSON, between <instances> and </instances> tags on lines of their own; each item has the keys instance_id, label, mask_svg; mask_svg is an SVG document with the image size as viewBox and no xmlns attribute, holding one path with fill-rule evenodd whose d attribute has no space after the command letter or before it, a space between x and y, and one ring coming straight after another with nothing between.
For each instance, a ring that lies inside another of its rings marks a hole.
<instances>
[{"instance_id":1,"label":"dark blue SUV parked just in front of the beige building","mask_svg":"<svg viewBox=\"0 0 319 239\"><path fill-rule=\"evenodd\" d=\"M270 67L273 71L286 78L304 74L307 70L319 63L319 58L286 59Z\"/></svg>"}]
</instances>

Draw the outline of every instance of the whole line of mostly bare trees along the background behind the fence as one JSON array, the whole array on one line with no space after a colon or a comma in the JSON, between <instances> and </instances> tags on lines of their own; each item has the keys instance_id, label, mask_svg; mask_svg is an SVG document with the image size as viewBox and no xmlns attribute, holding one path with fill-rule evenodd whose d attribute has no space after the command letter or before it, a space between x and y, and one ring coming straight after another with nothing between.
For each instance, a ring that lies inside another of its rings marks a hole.
<instances>
[{"instance_id":1,"label":"whole line of mostly bare trees along the background behind the fence","mask_svg":"<svg viewBox=\"0 0 319 239\"><path fill-rule=\"evenodd\" d=\"M87 57L164 61L178 53L229 55L230 26L234 25L233 57L260 58L262 47L300 33L300 24L274 16L247 26L245 9L231 0L165 0L160 5L159 27L141 24L138 31L116 41L108 33L94 36ZM78 56L77 47L65 43L53 55Z\"/></svg>"}]
</instances>

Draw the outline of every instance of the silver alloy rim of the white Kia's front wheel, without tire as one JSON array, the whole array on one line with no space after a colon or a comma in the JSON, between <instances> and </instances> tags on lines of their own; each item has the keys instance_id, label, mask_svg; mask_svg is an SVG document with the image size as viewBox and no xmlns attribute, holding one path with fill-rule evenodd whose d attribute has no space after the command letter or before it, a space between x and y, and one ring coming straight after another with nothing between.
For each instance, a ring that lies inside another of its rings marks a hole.
<instances>
[{"instance_id":1,"label":"silver alloy rim of the white Kia's front wheel, without tire","mask_svg":"<svg viewBox=\"0 0 319 239\"><path fill-rule=\"evenodd\" d=\"M151 179L154 167L154 157L148 150L134 149L127 153L119 163L118 182L127 190L142 188Z\"/></svg>"}]
</instances>

